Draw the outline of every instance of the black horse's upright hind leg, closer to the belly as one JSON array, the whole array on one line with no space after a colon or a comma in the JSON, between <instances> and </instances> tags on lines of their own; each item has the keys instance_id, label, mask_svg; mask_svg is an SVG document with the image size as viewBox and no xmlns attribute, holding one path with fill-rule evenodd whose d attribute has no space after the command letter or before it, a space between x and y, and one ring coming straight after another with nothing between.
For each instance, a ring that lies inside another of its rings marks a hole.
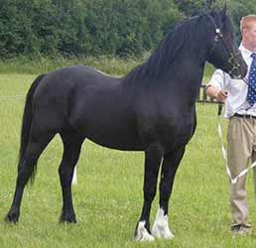
<instances>
[{"instance_id":1,"label":"black horse's upright hind leg, closer to the belly","mask_svg":"<svg viewBox=\"0 0 256 248\"><path fill-rule=\"evenodd\" d=\"M80 149L83 137L76 133L62 133L64 142L64 155L61 166L59 168L60 180L63 190L63 212L60 217L60 222L75 223L75 214L72 205L71 182L73 176L73 169L79 159Z\"/></svg>"}]
</instances>

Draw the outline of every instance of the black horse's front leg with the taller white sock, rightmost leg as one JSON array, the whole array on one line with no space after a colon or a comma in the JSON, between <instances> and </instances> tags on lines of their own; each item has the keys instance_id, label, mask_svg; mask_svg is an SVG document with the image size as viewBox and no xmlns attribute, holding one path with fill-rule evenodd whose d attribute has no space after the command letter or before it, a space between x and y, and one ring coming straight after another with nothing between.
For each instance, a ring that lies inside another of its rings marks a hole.
<instances>
[{"instance_id":1,"label":"black horse's front leg with the taller white sock, rightmost leg","mask_svg":"<svg viewBox=\"0 0 256 248\"><path fill-rule=\"evenodd\" d=\"M175 235L168 224L168 205L172 193L175 175L184 156L185 147L164 157L160 182L160 204L152 233L155 237L172 239Z\"/></svg>"}]
</instances>

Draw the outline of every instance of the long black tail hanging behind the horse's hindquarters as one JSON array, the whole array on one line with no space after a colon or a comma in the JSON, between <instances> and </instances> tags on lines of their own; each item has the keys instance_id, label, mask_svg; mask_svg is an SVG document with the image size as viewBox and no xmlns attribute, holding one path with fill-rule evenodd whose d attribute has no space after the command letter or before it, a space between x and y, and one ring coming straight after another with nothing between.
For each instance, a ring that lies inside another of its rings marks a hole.
<instances>
[{"instance_id":1,"label":"long black tail hanging behind the horse's hindquarters","mask_svg":"<svg viewBox=\"0 0 256 248\"><path fill-rule=\"evenodd\" d=\"M20 141L20 151L19 151L19 163L18 163L18 171L22 165L22 159L23 156L26 152L29 139L30 139L30 130L31 130L31 123L32 123L32 100L33 100L33 95L34 92L39 84L39 82L42 80L42 78L46 74L39 75L34 82L32 83L27 96L26 96L26 102L25 102L25 108L24 108L24 113L23 113L23 121L22 121L22 128L21 128L21 141ZM36 169L36 167L35 167ZM36 172L33 172L32 176L32 182L34 179Z\"/></svg>"}]
</instances>

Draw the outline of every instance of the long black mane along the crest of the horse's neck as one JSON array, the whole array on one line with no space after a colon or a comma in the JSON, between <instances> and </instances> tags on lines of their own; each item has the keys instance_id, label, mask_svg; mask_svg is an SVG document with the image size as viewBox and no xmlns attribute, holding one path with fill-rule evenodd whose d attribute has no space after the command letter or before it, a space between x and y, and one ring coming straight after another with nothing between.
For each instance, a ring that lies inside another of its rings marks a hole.
<instances>
[{"instance_id":1,"label":"long black mane along the crest of the horse's neck","mask_svg":"<svg viewBox=\"0 0 256 248\"><path fill-rule=\"evenodd\" d=\"M213 18L217 16L216 12L210 12L208 14L213 16ZM170 68L183 48L186 47L192 50L196 46L197 37L202 32L205 32L199 27L200 21L205 15L195 16L177 24L167 33L149 59L131 70L124 77L124 80L143 79L147 76L158 78L163 71Z\"/></svg>"}]
</instances>

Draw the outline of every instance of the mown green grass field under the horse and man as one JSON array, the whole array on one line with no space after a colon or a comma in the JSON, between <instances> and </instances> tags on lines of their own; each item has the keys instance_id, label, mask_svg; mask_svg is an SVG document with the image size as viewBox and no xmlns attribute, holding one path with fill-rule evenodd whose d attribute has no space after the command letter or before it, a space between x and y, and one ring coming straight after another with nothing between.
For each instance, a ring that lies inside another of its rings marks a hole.
<instances>
[{"instance_id":1,"label":"mown green grass field under the horse and man","mask_svg":"<svg viewBox=\"0 0 256 248\"><path fill-rule=\"evenodd\" d=\"M215 105L197 105L197 129L178 171L170 224L174 240L136 243L133 232L142 206L143 153L108 150L86 142L73 186L78 224L58 223L62 207L59 137L40 159L34 186L23 197L20 222L7 225L17 172L24 97L36 75L0 74L0 247L255 247L250 237L229 232L228 180L216 132ZM14 97L9 97L9 96ZM223 126L226 123L222 122ZM248 176L250 220L256 226L253 177ZM153 219L158 195L154 202Z\"/></svg>"}]
</instances>

